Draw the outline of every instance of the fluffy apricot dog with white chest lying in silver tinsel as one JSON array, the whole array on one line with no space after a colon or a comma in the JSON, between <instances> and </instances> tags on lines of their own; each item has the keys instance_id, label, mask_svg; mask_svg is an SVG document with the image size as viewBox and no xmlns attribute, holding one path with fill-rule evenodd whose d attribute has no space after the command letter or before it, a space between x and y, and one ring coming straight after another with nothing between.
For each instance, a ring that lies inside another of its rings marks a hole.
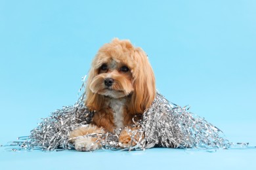
<instances>
[{"instance_id":1,"label":"fluffy apricot dog with white chest lying in silver tinsel","mask_svg":"<svg viewBox=\"0 0 256 170\"><path fill-rule=\"evenodd\" d=\"M156 81L146 53L129 40L113 39L97 52L89 71L85 106L94 111L91 124L70 132L75 150L101 148L98 137L88 134L119 133L119 143L131 143L133 118L142 116L156 97Z\"/></svg>"}]
</instances>

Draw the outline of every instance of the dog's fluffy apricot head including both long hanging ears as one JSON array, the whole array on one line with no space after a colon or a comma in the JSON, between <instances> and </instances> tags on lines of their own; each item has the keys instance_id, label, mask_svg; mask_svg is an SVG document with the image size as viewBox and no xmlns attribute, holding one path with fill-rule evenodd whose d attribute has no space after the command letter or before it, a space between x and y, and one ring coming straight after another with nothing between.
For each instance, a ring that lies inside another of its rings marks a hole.
<instances>
[{"instance_id":1,"label":"dog's fluffy apricot head including both long hanging ears","mask_svg":"<svg viewBox=\"0 0 256 170\"><path fill-rule=\"evenodd\" d=\"M155 96L154 73L141 48L114 39L98 50L87 79L85 105L89 109L100 110L105 97L128 97L129 111L142 113Z\"/></svg>"}]
</instances>

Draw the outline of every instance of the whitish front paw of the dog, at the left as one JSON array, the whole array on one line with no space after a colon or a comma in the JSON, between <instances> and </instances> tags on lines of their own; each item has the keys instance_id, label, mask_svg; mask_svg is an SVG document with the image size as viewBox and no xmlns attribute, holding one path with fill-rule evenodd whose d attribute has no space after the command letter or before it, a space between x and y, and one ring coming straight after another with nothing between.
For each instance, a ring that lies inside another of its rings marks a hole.
<instances>
[{"instance_id":1,"label":"whitish front paw of the dog, at the left","mask_svg":"<svg viewBox=\"0 0 256 170\"><path fill-rule=\"evenodd\" d=\"M81 137L74 141L75 150L77 151L93 151L100 148L100 143L96 142L92 137Z\"/></svg>"}]
</instances>

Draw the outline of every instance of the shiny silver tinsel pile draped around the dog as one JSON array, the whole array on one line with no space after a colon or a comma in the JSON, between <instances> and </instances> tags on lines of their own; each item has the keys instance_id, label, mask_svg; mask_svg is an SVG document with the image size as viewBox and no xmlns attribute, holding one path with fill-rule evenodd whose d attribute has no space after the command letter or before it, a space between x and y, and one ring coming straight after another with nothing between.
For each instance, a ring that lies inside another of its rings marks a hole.
<instances>
[{"instance_id":1,"label":"shiny silver tinsel pile draped around the dog","mask_svg":"<svg viewBox=\"0 0 256 170\"><path fill-rule=\"evenodd\" d=\"M14 142L19 150L64 150L73 149L68 140L70 131L80 126L88 126L93 118L84 105L82 95L73 106L63 107L43 119L23 141ZM139 128L131 131L133 146L123 147L118 143L118 133L89 134L98 137L102 148L144 150L154 146L169 148L228 148L232 143L224 138L220 129L204 118L188 112L187 107L169 103L163 95L157 93L150 109L145 110L141 120L135 122ZM129 129L127 129L129 131ZM138 134L140 137L138 138ZM135 137L137 135L137 137ZM143 136L143 137L142 137ZM135 143L135 146L134 146Z\"/></svg>"}]
</instances>

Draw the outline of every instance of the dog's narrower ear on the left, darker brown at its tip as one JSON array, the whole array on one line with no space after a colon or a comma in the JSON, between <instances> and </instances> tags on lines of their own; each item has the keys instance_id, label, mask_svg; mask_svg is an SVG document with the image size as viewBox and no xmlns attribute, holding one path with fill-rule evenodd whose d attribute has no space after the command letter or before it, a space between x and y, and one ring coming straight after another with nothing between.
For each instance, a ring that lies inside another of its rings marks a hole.
<instances>
[{"instance_id":1,"label":"dog's narrower ear on the left, darker brown at its tip","mask_svg":"<svg viewBox=\"0 0 256 170\"><path fill-rule=\"evenodd\" d=\"M90 110L100 110L104 102L104 96L99 95L98 93L93 93L89 88L93 78L97 75L97 73L97 69L95 69L95 67L91 67L86 82L85 105Z\"/></svg>"}]
</instances>

